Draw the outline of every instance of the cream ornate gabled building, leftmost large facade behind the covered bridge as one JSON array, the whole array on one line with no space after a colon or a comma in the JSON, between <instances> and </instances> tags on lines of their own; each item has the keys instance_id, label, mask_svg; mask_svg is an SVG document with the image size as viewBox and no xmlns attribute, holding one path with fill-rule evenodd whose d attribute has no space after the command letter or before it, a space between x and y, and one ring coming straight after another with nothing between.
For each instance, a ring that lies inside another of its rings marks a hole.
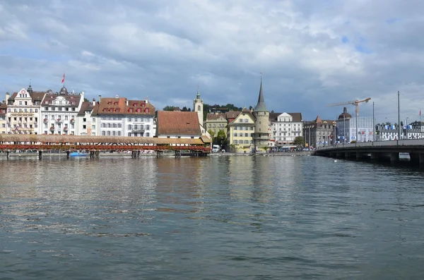
<instances>
[{"instance_id":1,"label":"cream ornate gabled building, leftmost large facade behind the covered bridge","mask_svg":"<svg viewBox=\"0 0 424 280\"><path fill-rule=\"evenodd\" d=\"M6 93L7 102L7 133L38 134L40 132L40 104L45 92L34 92L31 85L14 92L9 96Z\"/></svg>"}]
</instances>

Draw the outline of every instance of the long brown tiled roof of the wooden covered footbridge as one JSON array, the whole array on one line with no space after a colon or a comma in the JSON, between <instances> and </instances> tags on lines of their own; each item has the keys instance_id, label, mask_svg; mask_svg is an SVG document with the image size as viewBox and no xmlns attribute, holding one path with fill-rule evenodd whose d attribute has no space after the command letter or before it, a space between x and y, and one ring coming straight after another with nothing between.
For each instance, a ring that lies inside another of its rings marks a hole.
<instances>
[{"instance_id":1,"label":"long brown tiled roof of the wooden covered footbridge","mask_svg":"<svg viewBox=\"0 0 424 280\"><path fill-rule=\"evenodd\" d=\"M202 138L148 138L114 136L77 136L53 134L0 134L0 142L66 142L66 143L131 143L204 145Z\"/></svg>"}]
</instances>

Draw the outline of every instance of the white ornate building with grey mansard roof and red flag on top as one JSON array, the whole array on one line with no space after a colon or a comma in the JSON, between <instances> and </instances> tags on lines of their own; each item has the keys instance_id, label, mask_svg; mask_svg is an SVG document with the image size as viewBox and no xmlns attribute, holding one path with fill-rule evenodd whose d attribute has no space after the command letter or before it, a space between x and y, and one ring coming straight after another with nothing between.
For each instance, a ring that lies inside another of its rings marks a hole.
<instances>
[{"instance_id":1,"label":"white ornate building with grey mansard roof and red flag on top","mask_svg":"<svg viewBox=\"0 0 424 280\"><path fill-rule=\"evenodd\" d=\"M69 93L66 87L60 92L47 91L42 99L42 134L77 135L78 111L84 101L84 92Z\"/></svg>"}]
</instances>

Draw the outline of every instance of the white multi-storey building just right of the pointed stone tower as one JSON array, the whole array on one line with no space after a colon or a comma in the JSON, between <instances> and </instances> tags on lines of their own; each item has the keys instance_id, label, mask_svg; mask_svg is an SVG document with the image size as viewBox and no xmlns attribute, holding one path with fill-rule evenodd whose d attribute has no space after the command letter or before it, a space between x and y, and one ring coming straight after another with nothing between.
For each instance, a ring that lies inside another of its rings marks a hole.
<instances>
[{"instance_id":1,"label":"white multi-storey building just right of the pointed stone tower","mask_svg":"<svg viewBox=\"0 0 424 280\"><path fill-rule=\"evenodd\" d=\"M301 113L270 113L271 143L273 146L293 146L295 138L303 136Z\"/></svg>"}]
</instances>

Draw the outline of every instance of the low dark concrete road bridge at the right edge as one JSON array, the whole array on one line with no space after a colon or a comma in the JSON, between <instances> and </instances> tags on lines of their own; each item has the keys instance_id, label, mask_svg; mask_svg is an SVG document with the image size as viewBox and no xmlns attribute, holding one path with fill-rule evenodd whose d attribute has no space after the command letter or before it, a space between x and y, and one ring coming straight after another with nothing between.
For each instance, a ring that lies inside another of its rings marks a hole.
<instances>
[{"instance_id":1,"label":"low dark concrete road bridge at the right edge","mask_svg":"<svg viewBox=\"0 0 424 280\"><path fill-rule=\"evenodd\" d=\"M313 155L341 159L399 162L399 153L409 154L413 164L424 167L424 139L360 142L322 147Z\"/></svg>"}]
</instances>

